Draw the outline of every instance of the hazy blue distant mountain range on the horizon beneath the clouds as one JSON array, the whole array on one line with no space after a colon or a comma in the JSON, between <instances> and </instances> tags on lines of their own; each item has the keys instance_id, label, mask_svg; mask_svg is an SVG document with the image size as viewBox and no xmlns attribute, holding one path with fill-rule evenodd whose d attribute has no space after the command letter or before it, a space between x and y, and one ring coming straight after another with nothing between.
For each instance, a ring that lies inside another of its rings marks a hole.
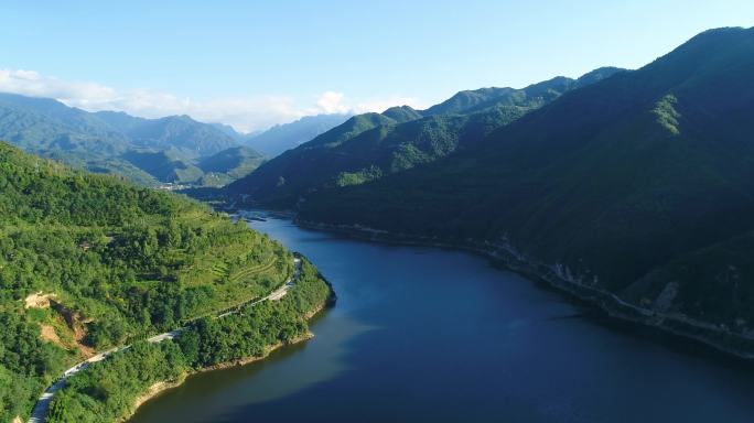
<instances>
[{"instance_id":1,"label":"hazy blue distant mountain range on the horizon beneath the clouds","mask_svg":"<svg viewBox=\"0 0 754 423\"><path fill-rule=\"evenodd\" d=\"M143 185L219 186L247 175L289 147L342 123L321 115L240 134L188 116L144 119L125 112L88 112L49 98L0 94L0 140L96 173ZM250 145L259 144L260 150Z\"/></svg>"}]
</instances>

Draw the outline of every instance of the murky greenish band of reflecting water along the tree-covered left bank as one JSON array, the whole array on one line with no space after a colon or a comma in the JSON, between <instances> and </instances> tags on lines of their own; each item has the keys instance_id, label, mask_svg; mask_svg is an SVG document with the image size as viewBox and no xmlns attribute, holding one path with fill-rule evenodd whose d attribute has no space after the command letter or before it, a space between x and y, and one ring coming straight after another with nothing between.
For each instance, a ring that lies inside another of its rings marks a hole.
<instances>
[{"instance_id":1,"label":"murky greenish band of reflecting water along the tree-covered left bank","mask_svg":"<svg viewBox=\"0 0 754 423\"><path fill-rule=\"evenodd\" d=\"M315 387L346 371L352 343L376 329L336 308L314 316L311 328L314 338L280 347L262 360L190 376L141 405L129 422L223 420L246 405Z\"/></svg>"}]
</instances>

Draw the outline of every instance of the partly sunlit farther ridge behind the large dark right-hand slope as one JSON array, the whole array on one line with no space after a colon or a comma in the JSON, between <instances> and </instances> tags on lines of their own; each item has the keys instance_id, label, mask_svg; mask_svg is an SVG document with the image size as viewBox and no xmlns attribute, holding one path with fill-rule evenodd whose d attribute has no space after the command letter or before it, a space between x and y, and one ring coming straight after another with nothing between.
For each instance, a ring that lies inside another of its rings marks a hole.
<instances>
[{"instance_id":1,"label":"partly sunlit farther ridge behind the large dark right-hand slope","mask_svg":"<svg viewBox=\"0 0 754 423\"><path fill-rule=\"evenodd\" d=\"M290 207L312 192L358 185L431 163L585 82L618 70L603 68L578 80L558 77L524 89L462 91L424 111L403 106L357 116L270 160L227 189Z\"/></svg>"}]
</instances>

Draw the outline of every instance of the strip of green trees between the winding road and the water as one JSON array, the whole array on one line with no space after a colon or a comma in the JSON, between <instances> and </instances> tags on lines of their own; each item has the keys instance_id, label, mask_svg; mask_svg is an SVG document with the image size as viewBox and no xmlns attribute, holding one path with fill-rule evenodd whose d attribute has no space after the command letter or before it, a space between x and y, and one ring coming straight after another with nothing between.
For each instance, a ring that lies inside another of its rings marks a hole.
<instances>
[{"instance_id":1,"label":"strip of green trees between the winding road and the water","mask_svg":"<svg viewBox=\"0 0 754 423\"><path fill-rule=\"evenodd\" d=\"M295 288L281 301L247 306L223 318L197 319L174 341L136 343L77 373L55 395L49 421L117 421L131 413L134 400L158 382L179 380L193 369L262 357L271 347L305 335L306 318L331 295L316 270L304 263Z\"/></svg>"}]
</instances>

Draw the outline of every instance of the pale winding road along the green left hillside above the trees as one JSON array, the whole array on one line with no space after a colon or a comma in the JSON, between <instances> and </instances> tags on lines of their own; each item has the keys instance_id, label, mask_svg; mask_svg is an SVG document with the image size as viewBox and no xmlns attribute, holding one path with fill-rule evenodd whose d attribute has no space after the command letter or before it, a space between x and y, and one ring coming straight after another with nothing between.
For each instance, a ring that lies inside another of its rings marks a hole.
<instances>
[{"instance_id":1,"label":"pale winding road along the green left hillside above the trees","mask_svg":"<svg viewBox=\"0 0 754 423\"><path fill-rule=\"evenodd\" d=\"M288 278L286 283L283 283L280 288L277 290L272 291L269 295L263 296L258 300L252 300L243 304L234 305L230 308L226 308L223 311L223 313L218 314L216 318L223 318L226 316L229 316L231 314L238 313L243 307L245 306L255 306L259 303L262 303L265 301L279 301L286 294L288 294L288 291L295 285L295 282L299 280L299 275L301 274L301 258L295 257L293 259L293 264L295 267L295 270L293 272L293 275L291 278ZM177 337L183 330L186 329L186 326L179 327L176 329L173 329L171 332L165 332L159 335L154 335L151 338L148 338L148 343L157 344L157 343L162 343L163 340L169 340L169 339L174 339ZM79 371L86 369L91 365L93 362L101 361L106 359L107 357L119 352L119 351L125 351L129 349L131 346L127 345L123 347L119 348L112 348L108 349L107 351L99 352L98 355L90 357L89 359L82 361L77 364L76 366L69 368L68 370L64 371L61 378L58 378L53 384L51 384L36 400L36 404L34 404L34 410L32 410L32 414L29 417L28 423L43 423L47 421L47 411L50 410L50 403L52 402L52 399L55 397L55 392L60 391L65 387L65 381L73 375L78 373Z\"/></svg>"}]
</instances>

